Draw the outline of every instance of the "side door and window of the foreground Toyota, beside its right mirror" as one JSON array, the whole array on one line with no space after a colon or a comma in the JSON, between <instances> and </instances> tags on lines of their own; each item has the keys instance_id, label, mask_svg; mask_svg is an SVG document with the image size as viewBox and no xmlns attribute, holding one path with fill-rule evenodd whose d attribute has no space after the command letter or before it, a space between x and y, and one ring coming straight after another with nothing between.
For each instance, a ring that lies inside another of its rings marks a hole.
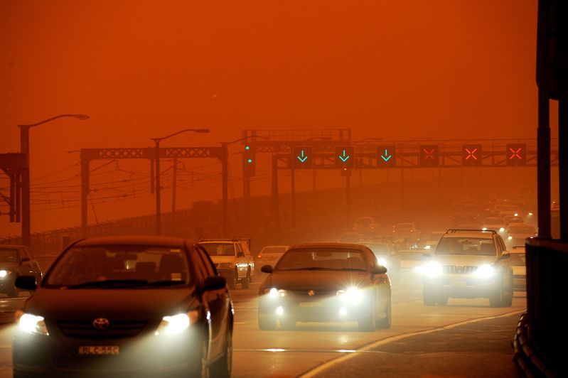
<instances>
[{"instance_id":1,"label":"side door and window of the foreground Toyota, beside its right mirror","mask_svg":"<svg viewBox=\"0 0 568 378\"><path fill-rule=\"evenodd\" d=\"M194 248L195 268L198 273L198 281L205 283L209 276L217 276L215 265L208 254L200 246ZM201 284L203 287L203 284ZM225 336L230 329L228 312L230 298L225 288L202 291L203 305L210 314L210 357L215 358L223 354Z\"/></svg>"}]
</instances>

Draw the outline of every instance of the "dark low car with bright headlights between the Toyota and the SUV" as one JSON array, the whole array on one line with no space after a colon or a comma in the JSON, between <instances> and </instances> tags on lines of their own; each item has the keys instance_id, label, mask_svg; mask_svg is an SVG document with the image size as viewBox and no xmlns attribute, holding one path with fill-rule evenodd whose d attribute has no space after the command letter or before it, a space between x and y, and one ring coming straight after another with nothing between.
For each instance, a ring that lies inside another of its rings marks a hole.
<instances>
[{"instance_id":1,"label":"dark low car with bright headlights between the Toyota and the SUV","mask_svg":"<svg viewBox=\"0 0 568 378\"><path fill-rule=\"evenodd\" d=\"M259 288L261 330L300 322L356 321L363 331L390 328L390 281L363 245L310 243L291 247Z\"/></svg>"}]
</instances>

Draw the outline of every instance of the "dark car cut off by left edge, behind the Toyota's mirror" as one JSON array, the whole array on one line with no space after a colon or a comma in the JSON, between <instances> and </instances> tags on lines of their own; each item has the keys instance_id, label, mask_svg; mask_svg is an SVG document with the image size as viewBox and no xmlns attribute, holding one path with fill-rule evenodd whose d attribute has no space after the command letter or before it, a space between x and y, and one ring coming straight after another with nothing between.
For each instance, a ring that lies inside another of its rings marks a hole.
<instances>
[{"instance_id":1,"label":"dark car cut off by left edge, behind the Toyota's mirror","mask_svg":"<svg viewBox=\"0 0 568 378\"><path fill-rule=\"evenodd\" d=\"M41 282L43 273L33 252L23 245L0 245L0 293L9 298L19 296L14 285L19 276L34 276L36 283Z\"/></svg>"}]
</instances>

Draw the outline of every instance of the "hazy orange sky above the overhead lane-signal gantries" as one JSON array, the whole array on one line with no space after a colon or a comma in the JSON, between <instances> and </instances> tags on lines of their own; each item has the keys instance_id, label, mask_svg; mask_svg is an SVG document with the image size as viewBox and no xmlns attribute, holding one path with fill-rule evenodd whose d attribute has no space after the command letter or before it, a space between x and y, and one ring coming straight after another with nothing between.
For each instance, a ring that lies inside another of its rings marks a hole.
<instances>
[{"instance_id":1,"label":"hazy orange sky above the overhead lane-signal gantries","mask_svg":"<svg viewBox=\"0 0 568 378\"><path fill-rule=\"evenodd\" d=\"M353 139L533 137L536 9L536 0L4 0L0 152L18 151L16 124L60 113L91 119L34 129L32 178L76 163L65 151L149 146L188 126L211 134L170 146L303 127L350 127Z\"/></svg>"}]
</instances>

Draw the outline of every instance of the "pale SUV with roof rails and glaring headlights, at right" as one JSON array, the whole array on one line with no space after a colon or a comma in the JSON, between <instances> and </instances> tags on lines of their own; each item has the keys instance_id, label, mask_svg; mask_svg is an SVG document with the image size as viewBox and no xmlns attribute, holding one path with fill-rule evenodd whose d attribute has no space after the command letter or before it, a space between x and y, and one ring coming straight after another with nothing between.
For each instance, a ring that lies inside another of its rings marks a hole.
<instances>
[{"instance_id":1,"label":"pale SUV with roof rails and glaring headlights, at right","mask_svg":"<svg viewBox=\"0 0 568 378\"><path fill-rule=\"evenodd\" d=\"M491 307L513 304L513 269L500 235L481 229L449 229L424 256L424 305L448 298L489 298Z\"/></svg>"}]
</instances>

